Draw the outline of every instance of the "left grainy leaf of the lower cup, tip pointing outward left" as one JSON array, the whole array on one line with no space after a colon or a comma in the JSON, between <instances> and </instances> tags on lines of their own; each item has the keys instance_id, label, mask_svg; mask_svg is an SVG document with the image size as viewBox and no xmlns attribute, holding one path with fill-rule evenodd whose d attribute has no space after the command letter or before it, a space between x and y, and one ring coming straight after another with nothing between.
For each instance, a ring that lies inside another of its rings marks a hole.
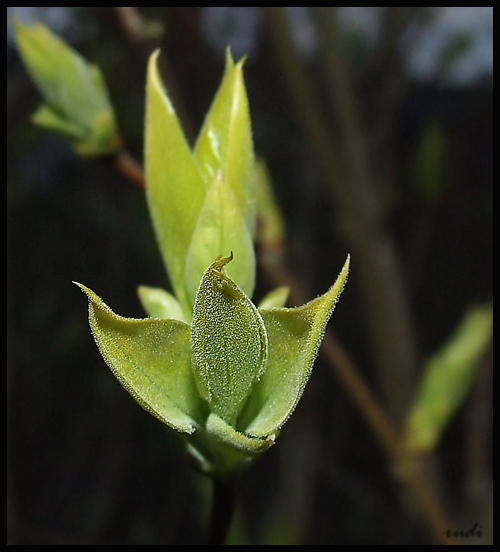
<instances>
[{"instance_id":1,"label":"left grainy leaf of the lower cup, tip pointing outward left","mask_svg":"<svg viewBox=\"0 0 500 552\"><path fill-rule=\"evenodd\" d=\"M177 320L123 318L92 290L77 285L89 298L97 346L119 382L163 423L193 433L200 405L191 370L189 326Z\"/></svg>"}]
</instances>

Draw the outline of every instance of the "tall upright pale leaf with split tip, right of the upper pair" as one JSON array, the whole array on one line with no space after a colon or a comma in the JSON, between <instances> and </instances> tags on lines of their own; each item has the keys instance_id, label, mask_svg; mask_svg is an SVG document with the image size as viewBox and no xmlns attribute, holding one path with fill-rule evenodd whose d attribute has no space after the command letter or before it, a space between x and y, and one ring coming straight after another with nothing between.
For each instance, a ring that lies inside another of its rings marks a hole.
<instances>
[{"instance_id":1,"label":"tall upright pale leaf with split tip, right of the upper pair","mask_svg":"<svg viewBox=\"0 0 500 552\"><path fill-rule=\"evenodd\" d=\"M198 136L194 156L207 187L218 173L222 174L253 237L255 158L243 62L235 64L227 50L224 78Z\"/></svg>"}]
</instances>

